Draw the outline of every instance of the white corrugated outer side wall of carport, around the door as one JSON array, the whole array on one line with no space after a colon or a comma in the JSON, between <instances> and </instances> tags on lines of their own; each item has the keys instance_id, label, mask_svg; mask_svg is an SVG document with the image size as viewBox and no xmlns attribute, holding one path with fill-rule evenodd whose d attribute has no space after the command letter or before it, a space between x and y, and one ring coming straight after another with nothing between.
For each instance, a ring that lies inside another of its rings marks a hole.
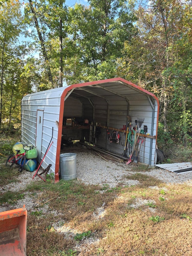
<instances>
[{"instance_id":1,"label":"white corrugated outer side wall of carport, around the door","mask_svg":"<svg viewBox=\"0 0 192 256\"><path fill-rule=\"evenodd\" d=\"M35 146L36 140L36 122L37 110L44 111L43 131L42 131L42 148L41 159L49 146L50 141L53 141L46 158L42 163L45 169L49 164L52 164L51 170L55 170L55 158L57 147L58 126L56 121L59 121L59 110L61 102L61 93L57 89L41 92L37 94L26 95L22 99L21 104L21 140L24 143L31 143ZM52 138L53 130L53 138ZM52 138L52 140L51 140Z\"/></svg>"}]
</instances>

